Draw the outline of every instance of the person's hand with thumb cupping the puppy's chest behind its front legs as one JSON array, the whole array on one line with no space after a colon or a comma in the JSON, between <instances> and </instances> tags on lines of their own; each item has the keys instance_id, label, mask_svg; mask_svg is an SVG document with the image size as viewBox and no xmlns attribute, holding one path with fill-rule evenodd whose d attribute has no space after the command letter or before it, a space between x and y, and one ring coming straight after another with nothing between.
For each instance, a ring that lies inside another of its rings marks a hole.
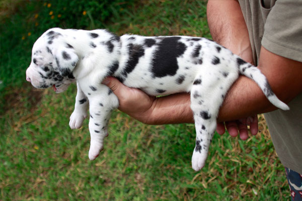
<instances>
[{"instance_id":1,"label":"person's hand with thumb cupping the puppy's chest behind its front legs","mask_svg":"<svg viewBox=\"0 0 302 201\"><path fill-rule=\"evenodd\" d=\"M118 97L120 111L142 123L148 123L155 96L150 96L137 88L127 87L114 77L106 77L102 83L111 88Z\"/></svg>"}]
</instances>

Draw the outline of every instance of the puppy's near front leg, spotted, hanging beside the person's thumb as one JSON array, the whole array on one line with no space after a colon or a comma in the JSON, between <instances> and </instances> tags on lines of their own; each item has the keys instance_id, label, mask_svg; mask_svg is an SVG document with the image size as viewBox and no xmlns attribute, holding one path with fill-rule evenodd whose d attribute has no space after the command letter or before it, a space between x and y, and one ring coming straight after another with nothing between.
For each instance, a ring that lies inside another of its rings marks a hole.
<instances>
[{"instance_id":1,"label":"puppy's near front leg, spotted, hanging beside the person's thumb","mask_svg":"<svg viewBox=\"0 0 302 201\"><path fill-rule=\"evenodd\" d=\"M116 95L107 86L89 86L89 131L91 136L89 159L94 160L103 150L104 138L108 136L107 126L113 109L118 107Z\"/></svg>"}]
</instances>

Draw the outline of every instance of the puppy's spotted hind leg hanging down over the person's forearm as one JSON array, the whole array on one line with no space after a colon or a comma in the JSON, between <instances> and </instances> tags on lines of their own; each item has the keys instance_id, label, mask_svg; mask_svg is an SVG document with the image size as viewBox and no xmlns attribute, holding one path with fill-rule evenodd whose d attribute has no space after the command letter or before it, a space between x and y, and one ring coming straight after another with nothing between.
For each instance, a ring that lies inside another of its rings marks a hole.
<instances>
[{"instance_id":1,"label":"puppy's spotted hind leg hanging down over the person's forearm","mask_svg":"<svg viewBox=\"0 0 302 201\"><path fill-rule=\"evenodd\" d=\"M205 165L217 126L216 118L219 108L225 93L232 84L232 80L225 77L219 77L219 80L216 80L206 79L209 77L206 73L203 76L205 79L202 79L201 75L197 76L191 88L191 109L196 129L196 145L192 155L192 168L195 171ZM232 79L235 80L237 76L234 74Z\"/></svg>"}]
</instances>

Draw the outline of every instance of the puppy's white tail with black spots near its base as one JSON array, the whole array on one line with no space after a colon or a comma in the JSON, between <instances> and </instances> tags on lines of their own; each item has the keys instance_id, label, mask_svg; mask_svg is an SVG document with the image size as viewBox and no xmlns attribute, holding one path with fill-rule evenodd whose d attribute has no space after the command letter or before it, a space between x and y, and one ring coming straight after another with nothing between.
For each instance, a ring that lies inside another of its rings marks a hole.
<instances>
[{"instance_id":1,"label":"puppy's white tail with black spots near its base","mask_svg":"<svg viewBox=\"0 0 302 201\"><path fill-rule=\"evenodd\" d=\"M241 58L237 58L237 65L241 74L254 80L258 86L261 88L267 99L276 107L282 110L289 110L289 107L284 104L272 91L266 77L261 71L250 63L245 62Z\"/></svg>"}]
</instances>

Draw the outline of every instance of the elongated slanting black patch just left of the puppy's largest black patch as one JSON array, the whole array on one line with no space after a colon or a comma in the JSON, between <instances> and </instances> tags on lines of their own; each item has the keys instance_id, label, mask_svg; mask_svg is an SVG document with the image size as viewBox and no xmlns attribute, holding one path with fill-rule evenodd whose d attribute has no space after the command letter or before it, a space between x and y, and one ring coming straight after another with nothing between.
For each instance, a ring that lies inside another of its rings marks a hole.
<instances>
[{"instance_id":1,"label":"elongated slanting black patch just left of the puppy's largest black patch","mask_svg":"<svg viewBox=\"0 0 302 201\"><path fill-rule=\"evenodd\" d=\"M127 76L128 73L132 72L138 63L139 58L144 55L144 49L141 45L133 45L130 43L128 44L128 51L129 59L123 72L124 76Z\"/></svg>"}]
</instances>

